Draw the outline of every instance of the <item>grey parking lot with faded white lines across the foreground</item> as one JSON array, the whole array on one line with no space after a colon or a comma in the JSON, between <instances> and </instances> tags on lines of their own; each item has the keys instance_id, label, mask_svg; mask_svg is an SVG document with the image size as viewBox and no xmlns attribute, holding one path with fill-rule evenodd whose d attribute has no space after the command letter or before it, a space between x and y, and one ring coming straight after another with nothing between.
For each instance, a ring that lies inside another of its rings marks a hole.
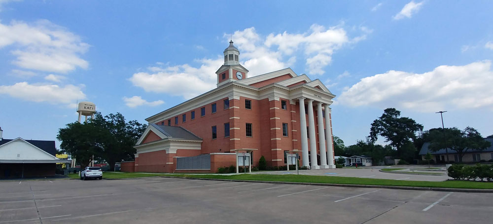
<instances>
[{"instance_id":1,"label":"grey parking lot with faded white lines across the foreground","mask_svg":"<svg viewBox=\"0 0 493 224\"><path fill-rule=\"evenodd\" d=\"M3 223L489 223L492 193L177 178L0 182Z\"/></svg>"}]
</instances>

